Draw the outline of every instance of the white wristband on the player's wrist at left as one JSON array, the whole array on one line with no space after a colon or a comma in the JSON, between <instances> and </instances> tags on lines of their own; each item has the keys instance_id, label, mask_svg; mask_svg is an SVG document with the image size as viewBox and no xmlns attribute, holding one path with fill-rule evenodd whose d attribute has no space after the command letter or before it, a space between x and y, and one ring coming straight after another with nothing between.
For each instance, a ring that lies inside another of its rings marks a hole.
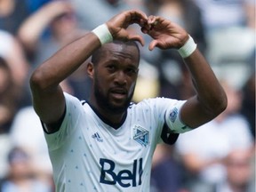
<instances>
[{"instance_id":1,"label":"white wristband on the player's wrist at left","mask_svg":"<svg viewBox=\"0 0 256 192\"><path fill-rule=\"evenodd\" d=\"M97 28L94 28L92 30L92 33L96 36L98 36L100 40L100 44L107 44L109 42L113 41L113 36L111 35L110 31L108 30L108 26L106 23L98 26Z\"/></svg>"}]
</instances>

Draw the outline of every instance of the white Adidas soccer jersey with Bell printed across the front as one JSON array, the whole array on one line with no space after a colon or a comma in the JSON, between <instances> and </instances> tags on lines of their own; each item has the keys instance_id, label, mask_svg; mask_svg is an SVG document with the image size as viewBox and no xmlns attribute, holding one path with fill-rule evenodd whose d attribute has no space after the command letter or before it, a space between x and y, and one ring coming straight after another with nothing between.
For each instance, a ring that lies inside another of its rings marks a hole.
<instances>
[{"instance_id":1,"label":"white Adidas soccer jersey with Bell printed across the front","mask_svg":"<svg viewBox=\"0 0 256 192\"><path fill-rule=\"evenodd\" d=\"M88 103L67 93L65 98L60 130L44 134L56 191L148 192L156 144L178 138L164 126L165 113L175 108L177 115L184 101L156 98L132 104L124 123L114 129Z\"/></svg>"}]
</instances>

